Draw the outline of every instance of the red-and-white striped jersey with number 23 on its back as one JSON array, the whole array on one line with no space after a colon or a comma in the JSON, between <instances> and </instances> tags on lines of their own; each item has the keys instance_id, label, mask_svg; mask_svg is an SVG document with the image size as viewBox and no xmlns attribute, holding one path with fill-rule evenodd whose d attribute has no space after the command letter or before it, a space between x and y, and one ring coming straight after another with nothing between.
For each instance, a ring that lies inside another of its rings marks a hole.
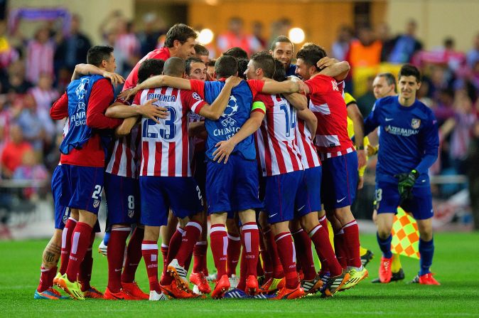
<instances>
[{"instance_id":1,"label":"red-and-white striped jersey with number 23 on its back","mask_svg":"<svg viewBox=\"0 0 479 318\"><path fill-rule=\"evenodd\" d=\"M166 107L168 117L141 120L140 176L191 176L187 113L199 113L206 102L190 90L155 88L138 92L134 104L158 99L154 105Z\"/></svg>"}]
</instances>

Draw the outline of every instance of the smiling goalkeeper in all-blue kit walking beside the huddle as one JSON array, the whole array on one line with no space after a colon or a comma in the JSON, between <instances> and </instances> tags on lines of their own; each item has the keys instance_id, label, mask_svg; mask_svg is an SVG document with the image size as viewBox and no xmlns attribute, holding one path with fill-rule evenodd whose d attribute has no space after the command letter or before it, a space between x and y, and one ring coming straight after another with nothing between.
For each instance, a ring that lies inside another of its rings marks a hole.
<instances>
[{"instance_id":1,"label":"smiling goalkeeper in all-blue kit walking beside the huddle","mask_svg":"<svg viewBox=\"0 0 479 318\"><path fill-rule=\"evenodd\" d=\"M419 70L404 65L398 75L398 96L376 101L365 120L365 135L380 127L376 167L377 242L382 250L380 281L392 271L391 230L397 206L412 213L419 228L420 270L413 282L439 285L431 274L434 255L432 196L428 170L438 155L438 125L433 112L419 100Z\"/></svg>"}]
</instances>

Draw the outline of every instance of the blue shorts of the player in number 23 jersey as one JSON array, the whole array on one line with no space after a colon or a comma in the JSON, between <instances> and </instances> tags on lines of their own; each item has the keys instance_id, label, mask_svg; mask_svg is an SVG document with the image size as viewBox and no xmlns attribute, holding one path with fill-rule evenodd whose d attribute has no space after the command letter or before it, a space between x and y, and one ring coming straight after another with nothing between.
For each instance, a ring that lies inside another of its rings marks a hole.
<instances>
[{"instance_id":1,"label":"blue shorts of the player in number 23 jersey","mask_svg":"<svg viewBox=\"0 0 479 318\"><path fill-rule=\"evenodd\" d=\"M166 226L171 208L178 218L203 211L200 187L191 176L140 176L141 224Z\"/></svg>"}]
</instances>

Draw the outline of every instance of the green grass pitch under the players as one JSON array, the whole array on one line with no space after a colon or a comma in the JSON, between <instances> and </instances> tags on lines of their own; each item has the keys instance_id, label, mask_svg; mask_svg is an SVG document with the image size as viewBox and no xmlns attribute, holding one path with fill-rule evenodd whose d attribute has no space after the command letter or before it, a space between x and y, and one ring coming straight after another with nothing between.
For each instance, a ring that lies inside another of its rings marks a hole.
<instances>
[{"instance_id":1,"label":"green grass pitch under the players","mask_svg":"<svg viewBox=\"0 0 479 318\"><path fill-rule=\"evenodd\" d=\"M301 300L173 300L134 302L33 300L41 253L47 240L0 242L0 317L479 317L479 233L438 233L433 272L441 286L372 284L380 250L375 235L361 243L375 253L367 266L370 278L330 299ZM99 241L95 242L94 250ZM107 258L95 253L92 285L107 285ZM402 258L406 281L419 268L417 260ZM208 266L213 268L212 259ZM136 280L148 289L144 263Z\"/></svg>"}]
</instances>

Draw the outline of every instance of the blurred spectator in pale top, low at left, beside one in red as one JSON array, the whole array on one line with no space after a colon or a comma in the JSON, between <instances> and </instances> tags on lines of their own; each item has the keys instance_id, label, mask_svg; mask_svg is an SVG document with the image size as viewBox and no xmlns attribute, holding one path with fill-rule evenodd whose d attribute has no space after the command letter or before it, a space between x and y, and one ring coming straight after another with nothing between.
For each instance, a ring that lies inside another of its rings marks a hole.
<instances>
[{"instance_id":1,"label":"blurred spectator in pale top, low at left, beside one in red","mask_svg":"<svg viewBox=\"0 0 479 318\"><path fill-rule=\"evenodd\" d=\"M33 150L26 150L21 157L21 165L18 166L14 175L14 180L32 180L46 181L48 179L48 171L45 166L38 162L38 157ZM36 198L38 196L38 188L24 188L24 198Z\"/></svg>"}]
</instances>

